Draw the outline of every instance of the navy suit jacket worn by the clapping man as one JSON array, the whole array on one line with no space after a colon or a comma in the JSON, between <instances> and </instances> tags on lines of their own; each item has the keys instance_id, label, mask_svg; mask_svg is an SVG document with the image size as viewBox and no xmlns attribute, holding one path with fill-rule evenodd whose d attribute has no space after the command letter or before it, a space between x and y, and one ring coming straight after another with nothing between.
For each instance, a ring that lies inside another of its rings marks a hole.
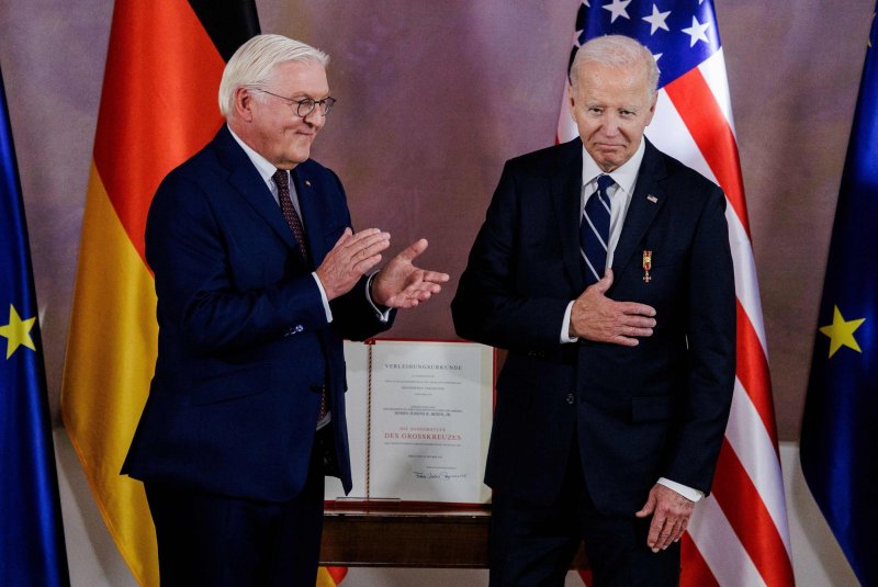
<instances>
[{"instance_id":1,"label":"navy suit jacket worn by the clapping man","mask_svg":"<svg viewBox=\"0 0 878 587\"><path fill-rule=\"evenodd\" d=\"M291 173L314 267L351 226L338 178L307 160ZM342 339L390 328L365 279L330 303L280 207L224 125L161 182L146 227L158 295L158 359L123 473L227 496L301 490L318 388L330 395L346 490L350 463Z\"/></svg>"}]
</instances>

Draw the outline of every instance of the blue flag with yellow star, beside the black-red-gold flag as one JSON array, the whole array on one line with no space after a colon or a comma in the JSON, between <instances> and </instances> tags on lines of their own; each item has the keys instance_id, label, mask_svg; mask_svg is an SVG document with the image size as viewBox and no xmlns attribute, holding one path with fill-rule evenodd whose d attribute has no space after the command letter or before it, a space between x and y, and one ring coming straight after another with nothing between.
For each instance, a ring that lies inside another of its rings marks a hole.
<instances>
[{"instance_id":1,"label":"blue flag with yellow star, beside the black-red-gold flag","mask_svg":"<svg viewBox=\"0 0 878 587\"><path fill-rule=\"evenodd\" d=\"M31 255L0 72L0 585L69 585Z\"/></svg>"}]
</instances>

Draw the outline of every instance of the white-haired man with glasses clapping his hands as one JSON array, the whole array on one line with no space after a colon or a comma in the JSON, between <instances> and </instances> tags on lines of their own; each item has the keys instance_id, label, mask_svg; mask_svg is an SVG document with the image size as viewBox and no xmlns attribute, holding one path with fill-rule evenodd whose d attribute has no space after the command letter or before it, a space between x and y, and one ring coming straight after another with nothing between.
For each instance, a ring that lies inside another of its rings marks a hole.
<instances>
[{"instance_id":1,"label":"white-haired man with glasses clapping his hands","mask_svg":"<svg viewBox=\"0 0 878 587\"><path fill-rule=\"evenodd\" d=\"M158 294L149 399L123 473L143 479L162 585L313 586L325 474L350 489L342 339L390 328L444 273L419 240L353 233L309 149L328 58L279 35L229 59L215 138L162 181L146 257Z\"/></svg>"}]
</instances>

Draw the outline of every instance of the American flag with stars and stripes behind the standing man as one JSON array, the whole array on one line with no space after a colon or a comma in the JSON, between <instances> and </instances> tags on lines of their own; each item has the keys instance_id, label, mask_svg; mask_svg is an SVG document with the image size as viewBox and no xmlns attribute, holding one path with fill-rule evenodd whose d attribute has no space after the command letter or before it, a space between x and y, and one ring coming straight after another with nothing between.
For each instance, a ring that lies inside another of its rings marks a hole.
<instances>
[{"instance_id":1,"label":"American flag with stars and stripes behind the standing man","mask_svg":"<svg viewBox=\"0 0 878 587\"><path fill-rule=\"evenodd\" d=\"M571 61L587 39L640 41L661 76L646 136L725 192L738 294L732 411L712 494L683 541L683 586L793 585L758 284L719 27L710 0L584 0ZM564 93L558 139L576 136Z\"/></svg>"}]
</instances>

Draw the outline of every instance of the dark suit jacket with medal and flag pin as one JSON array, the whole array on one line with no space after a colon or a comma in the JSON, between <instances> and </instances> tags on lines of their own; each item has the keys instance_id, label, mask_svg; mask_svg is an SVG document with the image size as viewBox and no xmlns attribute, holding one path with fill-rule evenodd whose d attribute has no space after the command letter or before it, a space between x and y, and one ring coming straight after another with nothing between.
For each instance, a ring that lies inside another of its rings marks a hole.
<instances>
[{"instance_id":1,"label":"dark suit jacket with medal and flag pin","mask_svg":"<svg viewBox=\"0 0 878 587\"><path fill-rule=\"evenodd\" d=\"M585 289L582 154L577 138L506 163L452 313L461 337L509 350L486 483L551 500L576 441L595 505L631 515L661 476L710 489L734 384L725 199L646 142L607 296L653 306L654 334L637 347L562 345L564 311Z\"/></svg>"}]
</instances>

